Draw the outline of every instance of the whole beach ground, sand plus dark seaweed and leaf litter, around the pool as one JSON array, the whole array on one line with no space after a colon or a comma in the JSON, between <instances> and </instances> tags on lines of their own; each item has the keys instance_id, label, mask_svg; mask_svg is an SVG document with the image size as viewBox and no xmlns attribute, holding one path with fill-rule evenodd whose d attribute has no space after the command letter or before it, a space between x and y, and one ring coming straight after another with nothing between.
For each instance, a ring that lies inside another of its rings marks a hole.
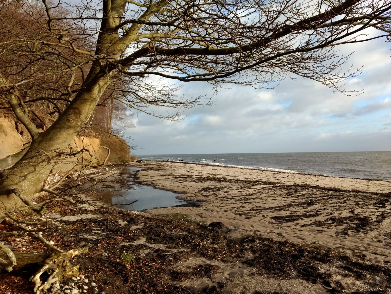
<instances>
[{"instance_id":1,"label":"whole beach ground, sand plus dark seaweed and leaf litter, around the pool","mask_svg":"<svg viewBox=\"0 0 391 294\"><path fill-rule=\"evenodd\" d=\"M88 249L72 261L79 279L47 293L391 294L390 182L178 162L132 166L143 168L138 183L202 202L147 213L102 206L94 197L129 189L133 176L123 166L96 171L76 204L47 206L56 229L42 236L65 251ZM46 250L29 238L6 242ZM29 276L0 273L0 281L1 293L32 293Z\"/></svg>"}]
</instances>

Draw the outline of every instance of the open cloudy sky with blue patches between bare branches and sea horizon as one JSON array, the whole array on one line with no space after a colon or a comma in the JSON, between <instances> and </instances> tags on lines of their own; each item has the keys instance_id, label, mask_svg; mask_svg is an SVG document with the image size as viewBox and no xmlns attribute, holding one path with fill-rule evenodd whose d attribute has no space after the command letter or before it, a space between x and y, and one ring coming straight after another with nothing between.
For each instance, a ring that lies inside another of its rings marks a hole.
<instances>
[{"instance_id":1,"label":"open cloudy sky with blue patches between bare branches and sea horizon","mask_svg":"<svg viewBox=\"0 0 391 294\"><path fill-rule=\"evenodd\" d=\"M213 106L185 110L179 121L143 113L124 131L140 149L132 154L391 151L391 44L382 40L343 45L362 73L333 92L319 82L291 76L274 89L184 83L178 95L205 95ZM156 109L165 114L167 109Z\"/></svg>"}]
</instances>

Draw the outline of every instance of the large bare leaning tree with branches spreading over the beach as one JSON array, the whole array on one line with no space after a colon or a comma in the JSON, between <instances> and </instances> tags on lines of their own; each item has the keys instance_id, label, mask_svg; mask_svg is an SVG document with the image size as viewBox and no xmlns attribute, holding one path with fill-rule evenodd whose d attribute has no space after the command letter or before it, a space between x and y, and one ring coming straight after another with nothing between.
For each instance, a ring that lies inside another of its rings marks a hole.
<instances>
[{"instance_id":1,"label":"large bare leaning tree with branches spreading over the beach","mask_svg":"<svg viewBox=\"0 0 391 294\"><path fill-rule=\"evenodd\" d=\"M116 93L131 109L156 116L149 106L174 107L179 111L164 117L176 118L180 109L204 102L177 97L175 82L268 87L298 75L343 91L341 82L358 71L345 65L349 56L335 47L391 38L389 0L5 0L1 5L0 66L8 70L0 73L0 105L25 126L31 142L2 171L0 220L51 191L42 188L48 174L105 95ZM31 25L7 27L12 5L24 16L17 23ZM42 101L55 114L38 132L29 109Z\"/></svg>"}]
</instances>

